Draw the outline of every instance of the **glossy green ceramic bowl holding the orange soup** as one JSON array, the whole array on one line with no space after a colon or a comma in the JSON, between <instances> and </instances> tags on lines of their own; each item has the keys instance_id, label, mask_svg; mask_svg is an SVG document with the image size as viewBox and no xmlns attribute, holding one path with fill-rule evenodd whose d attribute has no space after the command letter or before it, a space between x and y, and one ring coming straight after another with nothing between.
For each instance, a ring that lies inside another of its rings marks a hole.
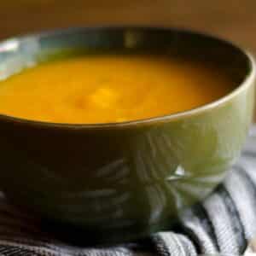
<instances>
[{"instance_id":1,"label":"glossy green ceramic bowl holding the orange soup","mask_svg":"<svg viewBox=\"0 0 256 256\"><path fill-rule=\"evenodd\" d=\"M41 61L102 53L185 56L218 66L237 84L201 108L124 123L0 115L0 187L10 200L67 238L131 241L170 228L223 180L252 120L255 64L233 44L195 32L72 28L0 44L0 79Z\"/></svg>"}]
</instances>

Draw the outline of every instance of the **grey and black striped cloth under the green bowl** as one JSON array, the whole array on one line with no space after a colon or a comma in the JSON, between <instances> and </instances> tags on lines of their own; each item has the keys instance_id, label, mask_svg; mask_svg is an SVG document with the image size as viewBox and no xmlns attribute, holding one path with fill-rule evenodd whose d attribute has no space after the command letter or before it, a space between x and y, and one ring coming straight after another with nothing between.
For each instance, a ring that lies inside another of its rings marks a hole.
<instances>
[{"instance_id":1,"label":"grey and black striped cloth under the green bowl","mask_svg":"<svg viewBox=\"0 0 256 256\"><path fill-rule=\"evenodd\" d=\"M0 256L241 255L256 236L256 126L224 183L183 212L172 231L116 247L75 247L40 229L40 222L0 198Z\"/></svg>"}]
</instances>

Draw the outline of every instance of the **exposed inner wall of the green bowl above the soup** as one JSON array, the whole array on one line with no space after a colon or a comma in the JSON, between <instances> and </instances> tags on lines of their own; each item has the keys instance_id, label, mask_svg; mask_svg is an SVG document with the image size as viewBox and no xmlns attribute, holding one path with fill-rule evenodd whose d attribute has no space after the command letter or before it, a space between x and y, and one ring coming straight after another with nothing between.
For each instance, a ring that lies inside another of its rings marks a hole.
<instances>
[{"instance_id":1,"label":"exposed inner wall of the green bowl above the soup","mask_svg":"<svg viewBox=\"0 0 256 256\"><path fill-rule=\"evenodd\" d=\"M44 61L95 54L170 55L205 62L228 74L236 84L234 90L253 70L252 61L241 49L200 33L157 27L94 27L43 32L4 41L0 44L0 80Z\"/></svg>"}]
</instances>

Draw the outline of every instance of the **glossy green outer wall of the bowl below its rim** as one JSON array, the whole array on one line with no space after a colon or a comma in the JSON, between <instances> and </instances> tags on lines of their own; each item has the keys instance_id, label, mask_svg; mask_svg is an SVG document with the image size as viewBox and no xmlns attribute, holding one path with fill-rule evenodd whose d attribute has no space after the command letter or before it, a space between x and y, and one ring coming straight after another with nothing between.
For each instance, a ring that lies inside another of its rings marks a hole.
<instances>
[{"instance_id":1,"label":"glossy green outer wall of the bowl below its rim","mask_svg":"<svg viewBox=\"0 0 256 256\"><path fill-rule=\"evenodd\" d=\"M144 125L70 128L2 116L0 187L44 218L107 239L166 227L239 155L253 116L251 83L215 108Z\"/></svg>"}]
</instances>

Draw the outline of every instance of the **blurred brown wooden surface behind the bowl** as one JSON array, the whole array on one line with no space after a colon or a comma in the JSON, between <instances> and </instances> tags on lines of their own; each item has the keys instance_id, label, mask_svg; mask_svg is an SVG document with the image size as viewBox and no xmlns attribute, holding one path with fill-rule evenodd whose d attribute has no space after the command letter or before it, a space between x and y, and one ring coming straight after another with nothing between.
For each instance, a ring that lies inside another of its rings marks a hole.
<instances>
[{"instance_id":1,"label":"blurred brown wooden surface behind the bowl","mask_svg":"<svg viewBox=\"0 0 256 256\"><path fill-rule=\"evenodd\" d=\"M0 0L0 39L102 24L187 27L230 39L256 54L256 0Z\"/></svg>"}]
</instances>

